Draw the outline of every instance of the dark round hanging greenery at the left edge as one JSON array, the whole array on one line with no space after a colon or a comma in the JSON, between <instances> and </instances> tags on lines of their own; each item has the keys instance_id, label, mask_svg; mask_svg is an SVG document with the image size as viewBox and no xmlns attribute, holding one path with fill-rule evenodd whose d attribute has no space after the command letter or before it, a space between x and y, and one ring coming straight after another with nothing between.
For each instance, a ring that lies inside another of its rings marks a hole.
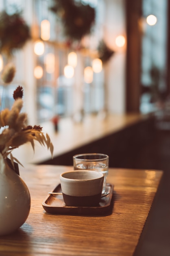
<instances>
[{"instance_id":1,"label":"dark round hanging greenery at the left edge","mask_svg":"<svg viewBox=\"0 0 170 256\"><path fill-rule=\"evenodd\" d=\"M0 52L10 56L13 50L20 49L31 38L30 29L20 12L12 15L0 13Z\"/></svg>"}]
</instances>

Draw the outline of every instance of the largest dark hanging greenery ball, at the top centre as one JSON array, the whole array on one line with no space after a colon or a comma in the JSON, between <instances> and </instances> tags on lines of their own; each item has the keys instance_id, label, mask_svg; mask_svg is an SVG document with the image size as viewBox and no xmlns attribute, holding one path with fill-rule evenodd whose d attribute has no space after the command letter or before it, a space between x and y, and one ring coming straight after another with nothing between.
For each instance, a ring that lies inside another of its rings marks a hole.
<instances>
[{"instance_id":1,"label":"largest dark hanging greenery ball, at the top centre","mask_svg":"<svg viewBox=\"0 0 170 256\"><path fill-rule=\"evenodd\" d=\"M95 20L95 9L74 0L54 0L51 11L57 13L64 27L64 34L70 40L81 40L89 34Z\"/></svg>"}]
</instances>

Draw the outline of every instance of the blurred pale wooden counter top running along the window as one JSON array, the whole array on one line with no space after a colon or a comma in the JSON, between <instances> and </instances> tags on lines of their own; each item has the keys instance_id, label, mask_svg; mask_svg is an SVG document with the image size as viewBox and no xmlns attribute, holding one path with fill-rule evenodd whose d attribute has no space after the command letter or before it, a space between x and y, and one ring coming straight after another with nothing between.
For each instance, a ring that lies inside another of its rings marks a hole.
<instances>
[{"instance_id":1,"label":"blurred pale wooden counter top running along the window","mask_svg":"<svg viewBox=\"0 0 170 256\"><path fill-rule=\"evenodd\" d=\"M71 119L61 119L59 131L54 132L51 123L41 124L54 145L54 157L63 155L83 145L97 141L107 135L123 130L146 120L145 115L108 115L106 119L98 116L86 116L82 123L75 124ZM30 143L13 150L13 156L22 164L39 164L51 159L50 151L37 144L35 153Z\"/></svg>"}]
</instances>

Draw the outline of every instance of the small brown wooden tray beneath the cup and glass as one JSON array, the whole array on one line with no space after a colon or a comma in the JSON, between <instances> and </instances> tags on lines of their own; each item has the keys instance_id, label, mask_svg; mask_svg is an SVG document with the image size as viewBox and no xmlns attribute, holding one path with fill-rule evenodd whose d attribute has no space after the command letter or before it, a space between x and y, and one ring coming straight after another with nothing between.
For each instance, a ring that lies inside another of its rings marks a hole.
<instances>
[{"instance_id":1,"label":"small brown wooden tray beneath the cup and glass","mask_svg":"<svg viewBox=\"0 0 170 256\"><path fill-rule=\"evenodd\" d=\"M61 192L61 185L58 184L52 192ZM106 184L106 192L109 192L108 195L102 197L98 206L95 207L70 207L66 206L63 200L63 195L51 195L49 194L44 202L42 202L42 206L44 210L48 213L54 214L89 214L89 215L97 215L97 214L105 214L111 208L111 199L113 196L113 185L107 183Z\"/></svg>"}]
</instances>

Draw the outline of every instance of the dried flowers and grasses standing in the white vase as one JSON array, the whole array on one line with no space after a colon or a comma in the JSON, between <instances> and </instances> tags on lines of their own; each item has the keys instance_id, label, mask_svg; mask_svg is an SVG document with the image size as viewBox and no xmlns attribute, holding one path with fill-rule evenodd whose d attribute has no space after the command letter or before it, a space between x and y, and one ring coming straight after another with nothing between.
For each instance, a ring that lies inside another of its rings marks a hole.
<instances>
[{"instance_id":1,"label":"dried flowers and grasses standing in the white vase","mask_svg":"<svg viewBox=\"0 0 170 256\"><path fill-rule=\"evenodd\" d=\"M2 72L1 78L4 83L10 83L15 74L15 67L8 64ZM21 164L12 155L12 150L19 146L31 142L33 150L35 141L38 141L42 146L47 146L53 155L53 144L50 141L48 134L44 135L42 127L27 125L27 114L22 113L23 107L23 88L18 86L13 92L14 103L9 110L8 108L0 112L0 154L4 159L10 155L11 164L14 167L14 160Z\"/></svg>"}]
</instances>

